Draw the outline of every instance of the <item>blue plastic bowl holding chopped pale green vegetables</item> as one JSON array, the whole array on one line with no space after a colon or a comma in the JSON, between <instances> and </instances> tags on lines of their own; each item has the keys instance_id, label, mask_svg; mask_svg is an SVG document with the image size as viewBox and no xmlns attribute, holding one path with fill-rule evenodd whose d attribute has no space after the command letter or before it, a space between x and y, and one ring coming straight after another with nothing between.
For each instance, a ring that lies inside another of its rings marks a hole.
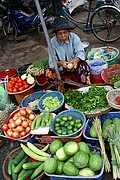
<instances>
[{"instance_id":1,"label":"blue plastic bowl holding chopped pale green vegetables","mask_svg":"<svg viewBox=\"0 0 120 180\"><path fill-rule=\"evenodd\" d=\"M61 104L56 108L56 109L52 109L52 110L45 110L44 107L43 107L43 100L47 97L50 97L52 96L53 98L54 97L57 97L59 101L61 101ZM58 112L64 105L64 95L59 92L59 91L51 91L51 92L47 92L45 95L43 95L39 102L38 102L38 108L41 112Z\"/></svg>"}]
</instances>

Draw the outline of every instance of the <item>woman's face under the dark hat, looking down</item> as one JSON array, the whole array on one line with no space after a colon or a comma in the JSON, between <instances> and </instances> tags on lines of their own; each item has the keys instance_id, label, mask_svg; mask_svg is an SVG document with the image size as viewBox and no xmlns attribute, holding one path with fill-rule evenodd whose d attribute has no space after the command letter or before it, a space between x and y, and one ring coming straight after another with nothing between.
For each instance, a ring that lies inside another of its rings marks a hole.
<instances>
[{"instance_id":1,"label":"woman's face under the dark hat, looking down","mask_svg":"<svg viewBox=\"0 0 120 180\"><path fill-rule=\"evenodd\" d=\"M68 40L69 34L70 31L67 29L58 30L56 32L56 36L61 42L66 42Z\"/></svg>"}]
</instances>

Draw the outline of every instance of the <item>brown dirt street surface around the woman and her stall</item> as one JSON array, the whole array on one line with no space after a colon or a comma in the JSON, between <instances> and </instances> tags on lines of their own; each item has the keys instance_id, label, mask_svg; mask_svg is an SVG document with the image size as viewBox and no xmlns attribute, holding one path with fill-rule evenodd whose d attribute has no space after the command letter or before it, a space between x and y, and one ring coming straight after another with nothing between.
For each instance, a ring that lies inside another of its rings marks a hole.
<instances>
[{"instance_id":1,"label":"brown dirt street surface around the woman and her stall","mask_svg":"<svg viewBox=\"0 0 120 180\"><path fill-rule=\"evenodd\" d=\"M80 20L84 20L86 12L82 10L82 8L79 9L79 12L77 12L74 16L79 18ZM51 30L48 30L49 34ZM113 46L120 50L120 40L117 42L114 42L112 44L105 44L100 41L98 41L92 34L85 34L82 32L82 30L76 28L73 30L82 41L88 41L90 43L90 46L88 47L89 50L91 48L98 48L102 46ZM50 34L50 38L52 35ZM9 68L15 68L18 69L21 66L33 63L39 59L47 57L47 43L44 36L44 32L41 30L41 33L38 32L29 32L27 37L24 40L18 40L18 41L10 41L5 39L5 37L2 34L2 31L0 30L0 71L3 71L5 69ZM117 62L120 61L120 56L117 59ZM11 141L5 140L5 145L0 148L0 180L4 180L3 173L2 173L2 165L3 161L6 157L6 155L15 147L19 145L18 142L15 142L14 144L11 144ZM48 179L47 177L44 177L43 179ZM103 180L112 180L111 173L104 174Z\"/></svg>"}]
</instances>

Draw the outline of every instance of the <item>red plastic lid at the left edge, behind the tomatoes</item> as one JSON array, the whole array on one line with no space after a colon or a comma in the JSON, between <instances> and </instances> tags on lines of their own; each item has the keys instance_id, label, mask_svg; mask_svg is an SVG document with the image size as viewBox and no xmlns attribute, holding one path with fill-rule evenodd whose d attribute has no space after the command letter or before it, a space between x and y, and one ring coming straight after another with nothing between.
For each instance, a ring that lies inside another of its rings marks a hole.
<instances>
[{"instance_id":1,"label":"red plastic lid at the left edge, behind the tomatoes","mask_svg":"<svg viewBox=\"0 0 120 180\"><path fill-rule=\"evenodd\" d=\"M6 69L6 70L0 72L0 79L4 79L4 78L6 78L6 76L12 77L12 76L15 76L16 74L17 74L16 69Z\"/></svg>"}]
</instances>

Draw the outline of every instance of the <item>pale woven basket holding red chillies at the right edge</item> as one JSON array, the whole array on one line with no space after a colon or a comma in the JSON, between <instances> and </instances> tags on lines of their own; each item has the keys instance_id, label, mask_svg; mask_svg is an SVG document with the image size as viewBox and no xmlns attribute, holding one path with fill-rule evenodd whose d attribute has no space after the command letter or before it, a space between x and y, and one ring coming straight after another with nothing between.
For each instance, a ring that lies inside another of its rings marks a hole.
<instances>
[{"instance_id":1,"label":"pale woven basket holding red chillies at the right edge","mask_svg":"<svg viewBox=\"0 0 120 180\"><path fill-rule=\"evenodd\" d=\"M110 90L106 95L109 105L114 109L120 109L120 105L118 105L118 103L115 100L117 96L120 96L120 89Z\"/></svg>"}]
</instances>

